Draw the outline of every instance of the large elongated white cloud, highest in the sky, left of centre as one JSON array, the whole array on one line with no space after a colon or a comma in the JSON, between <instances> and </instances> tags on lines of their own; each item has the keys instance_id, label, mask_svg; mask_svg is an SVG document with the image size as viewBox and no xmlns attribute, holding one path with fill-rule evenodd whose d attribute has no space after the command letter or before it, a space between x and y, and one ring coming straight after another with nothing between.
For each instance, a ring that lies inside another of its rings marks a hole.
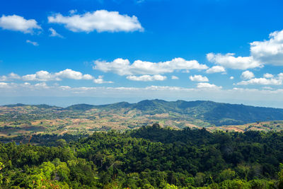
<instances>
[{"instance_id":1,"label":"large elongated white cloud, highest in the sky, left of centre","mask_svg":"<svg viewBox=\"0 0 283 189\"><path fill-rule=\"evenodd\" d=\"M139 30L142 31L141 23L136 16L121 15L117 11L93 11L84 14L74 14L70 16L62 16L57 13L54 16L48 17L49 23L63 24L65 28L73 32L90 33L94 30L98 32L130 32Z\"/></svg>"}]
</instances>

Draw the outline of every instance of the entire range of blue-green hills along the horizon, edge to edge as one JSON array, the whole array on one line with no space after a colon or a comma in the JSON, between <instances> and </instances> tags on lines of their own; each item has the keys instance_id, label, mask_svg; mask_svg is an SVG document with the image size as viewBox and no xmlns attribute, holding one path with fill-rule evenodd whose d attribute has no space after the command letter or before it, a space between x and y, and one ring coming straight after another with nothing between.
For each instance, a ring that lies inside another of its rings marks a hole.
<instances>
[{"instance_id":1,"label":"entire range of blue-green hills along the horizon, edge to edge","mask_svg":"<svg viewBox=\"0 0 283 189\"><path fill-rule=\"evenodd\" d=\"M71 115L81 115L89 110L99 110L104 113L135 113L136 115L174 115L174 118L187 120L202 120L212 125L242 125L248 122L283 120L283 109L263 108L243 104L216 103L212 101L163 101L145 100L138 103L112 103L108 105L76 104L67 108L60 108L50 105L4 105L6 108L30 107L31 114L47 113L50 115L57 113L60 118ZM35 109L34 109L35 108ZM43 112L42 112L43 111ZM0 109L1 113L1 109ZM17 113L19 114L19 113ZM3 113L1 113L3 116ZM56 115L53 115L56 117Z\"/></svg>"}]
</instances>

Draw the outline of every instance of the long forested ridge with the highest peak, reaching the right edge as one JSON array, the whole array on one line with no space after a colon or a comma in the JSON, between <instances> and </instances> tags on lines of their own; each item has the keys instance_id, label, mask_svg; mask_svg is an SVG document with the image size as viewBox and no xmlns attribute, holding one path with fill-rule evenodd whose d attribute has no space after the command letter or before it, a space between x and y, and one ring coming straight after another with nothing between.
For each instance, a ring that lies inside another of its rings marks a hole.
<instances>
[{"instance_id":1,"label":"long forested ridge with the highest peak, reaching the right edge","mask_svg":"<svg viewBox=\"0 0 283 189\"><path fill-rule=\"evenodd\" d=\"M177 113L203 120L214 125L241 125L248 122L283 120L283 109L262 108L250 105L215 103L212 101L145 100L139 103L113 103L109 105L71 105L66 110L139 110L142 114Z\"/></svg>"}]
</instances>

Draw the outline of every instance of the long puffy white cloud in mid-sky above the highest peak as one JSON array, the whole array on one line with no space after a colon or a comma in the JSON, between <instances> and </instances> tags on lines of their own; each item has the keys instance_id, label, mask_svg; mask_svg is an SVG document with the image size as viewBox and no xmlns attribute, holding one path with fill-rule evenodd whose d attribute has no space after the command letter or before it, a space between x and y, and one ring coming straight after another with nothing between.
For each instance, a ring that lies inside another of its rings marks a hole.
<instances>
[{"instance_id":1,"label":"long puffy white cloud in mid-sky above the highest peak","mask_svg":"<svg viewBox=\"0 0 283 189\"><path fill-rule=\"evenodd\" d=\"M113 62L96 60L93 69L104 72L113 72L115 74L136 75L136 74L164 74L175 70L188 69L207 69L207 65L200 64L196 60L187 61L183 58L175 58L167 62L146 62L141 60L130 64L128 59L115 59Z\"/></svg>"}]
</instances>

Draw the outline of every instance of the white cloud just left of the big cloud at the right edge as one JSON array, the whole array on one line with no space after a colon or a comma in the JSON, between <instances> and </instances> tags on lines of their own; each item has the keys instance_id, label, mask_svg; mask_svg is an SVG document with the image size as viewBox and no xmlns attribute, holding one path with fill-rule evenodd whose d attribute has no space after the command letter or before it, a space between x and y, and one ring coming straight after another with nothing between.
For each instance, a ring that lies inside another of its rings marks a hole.
<instances>
[{"instance_id":1,"label":"white cloud just left of the big cloud at the right edge","mask_svg":"<svg viewBox=\"0 0 283 189\"><path fill-rule=\"evenodd\" d=\"M226 55L209 53L207 54L207 59L209 62L231 69L251 69L263 67L263 65L253 59L253 57L234 57L234 55L234 53L227 53Z\"/></svg>"}]
</instances>

